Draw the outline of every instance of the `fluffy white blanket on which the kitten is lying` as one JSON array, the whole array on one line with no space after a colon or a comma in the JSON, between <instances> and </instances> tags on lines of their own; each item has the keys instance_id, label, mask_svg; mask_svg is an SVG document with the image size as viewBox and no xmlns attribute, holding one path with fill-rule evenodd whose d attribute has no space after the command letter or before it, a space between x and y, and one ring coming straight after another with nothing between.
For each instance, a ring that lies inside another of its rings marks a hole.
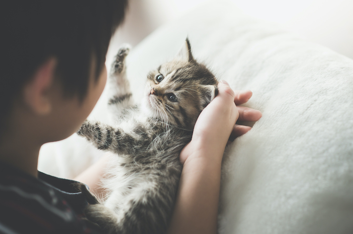
<instances>
[{"instance_id":1,"label":"fluffy white blanket on which the kitten is lying","mask_svg":"<svg viewBox=\"0 0 353 234\"><path fill-rule=\"evenodd\" d=\"M252 90L247 106L263 112L226 150L220 233L353 233L353 60L249 18L230 2L209 2L130 53L136 101L147 72L172 58L186 36L196 59L232 88ZM103 119L104 100L93 117ZM39 169L72 177L95 161L96 153L63 156L76 140L44 146Z\"/></svg>"}]
</instances>

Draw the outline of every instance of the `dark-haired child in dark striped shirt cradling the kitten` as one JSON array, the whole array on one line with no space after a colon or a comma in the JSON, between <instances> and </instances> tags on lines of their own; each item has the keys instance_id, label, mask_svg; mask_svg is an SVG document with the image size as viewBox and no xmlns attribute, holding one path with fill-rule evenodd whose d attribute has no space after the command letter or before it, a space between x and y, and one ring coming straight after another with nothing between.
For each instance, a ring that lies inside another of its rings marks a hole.
<instances>
[{"instance_id":1,"label":"dark-haired child in dark striped shirt cradling the kitten","mask_svg":"<svg viewBox=\"0 0 353 234\"><path fill-rule=\"evenodd\" d=\"M37 171L38 154L44 143L77 131L96 104L106 82L109 40L126 4L12 0L1 7L0 233L101 233L83 218L88 202L73 181ZM226 143L231 133L250 129L236 125L238 117L261 117L236 107L250 97L250 91L234 92L221 82L198 118L180 153L183 170L169 233L216 233Z\"/></svg>"}]
</instances>

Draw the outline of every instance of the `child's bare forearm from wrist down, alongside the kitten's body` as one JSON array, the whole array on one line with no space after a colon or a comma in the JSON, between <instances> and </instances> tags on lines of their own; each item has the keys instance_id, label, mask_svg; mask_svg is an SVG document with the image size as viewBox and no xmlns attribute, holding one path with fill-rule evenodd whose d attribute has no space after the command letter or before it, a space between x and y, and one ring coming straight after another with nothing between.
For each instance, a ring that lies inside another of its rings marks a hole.
<instances>
[{"instance_id":1,"label":"child's bare forearm from wrist down, alongside the kitten's body","mask_svg":"<svg viewBox=\"0 0 353 234\"><path fill-rule=\"evenodd\" d=\"M194 157L185 162L169 234L217 233L221 161L210 163L207 158Z\"/></svg>"}]
</instances>

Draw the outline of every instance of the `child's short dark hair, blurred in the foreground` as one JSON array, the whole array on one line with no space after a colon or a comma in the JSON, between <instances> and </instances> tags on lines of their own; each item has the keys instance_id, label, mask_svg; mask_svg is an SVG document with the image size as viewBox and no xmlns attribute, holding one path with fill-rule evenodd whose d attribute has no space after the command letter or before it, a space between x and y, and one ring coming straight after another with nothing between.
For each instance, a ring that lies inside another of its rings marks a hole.
<instances>
[{"instance_id":1,"label":"child's short dark hair, blurred in the foreground","mask_svg":"<svg viewBox=\"0 0 353 234\"><path fill-rule=\"evenodd\" d=\"M50 57L66 96L85 97L89 67L104 66L127 0L8 0L0 4L0 132L24 84ZM1 134L0 134L1 135Z\"/></svg>"}]
</instances>

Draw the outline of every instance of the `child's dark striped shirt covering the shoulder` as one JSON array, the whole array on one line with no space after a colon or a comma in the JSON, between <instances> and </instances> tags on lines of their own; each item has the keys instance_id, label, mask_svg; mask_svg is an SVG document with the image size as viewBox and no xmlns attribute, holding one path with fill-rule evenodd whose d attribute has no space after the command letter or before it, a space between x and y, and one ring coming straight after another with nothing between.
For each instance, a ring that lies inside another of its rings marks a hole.
<instances>
[{"instance_id":1,"label":"child's dark striped shirt covering the shoulder","mask_svg":"<svg viewBox=\"0 0 353 234\"><path fill-rule=\"evenodd\" d=\"M0 163L0 233L98 233L82 219L88 203L75 183Z\"/></svg>"}]
</instances>

